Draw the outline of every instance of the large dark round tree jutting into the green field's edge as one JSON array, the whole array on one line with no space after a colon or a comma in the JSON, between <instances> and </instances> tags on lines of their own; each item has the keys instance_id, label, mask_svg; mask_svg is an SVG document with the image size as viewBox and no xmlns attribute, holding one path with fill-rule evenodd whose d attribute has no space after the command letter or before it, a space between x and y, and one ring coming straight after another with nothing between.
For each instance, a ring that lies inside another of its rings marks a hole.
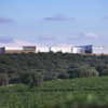
<instances>
[{"instance_id":1,"label":"large dark round tree jutting into the green field's edge","mask_svg":"<svg viewBox=\"0 0 108 108\"><path fill-rule=\"evenodd\" d=\"M21 81L32 89L43 83L43 77L37 72L26 72L21 76Z\"/></svg>"}]
</instances>

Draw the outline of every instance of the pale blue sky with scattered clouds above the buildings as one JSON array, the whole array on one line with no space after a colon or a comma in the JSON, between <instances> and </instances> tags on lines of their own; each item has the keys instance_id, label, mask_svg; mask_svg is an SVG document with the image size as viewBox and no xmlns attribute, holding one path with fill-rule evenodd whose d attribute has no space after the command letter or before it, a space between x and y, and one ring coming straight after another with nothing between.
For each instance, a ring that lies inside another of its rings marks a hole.
<instances>
[{"instance_id":1,"label":"pale blue sky with scattered clouds above the buildings","mask_svg":"<svg viewBox=\"0 0 108 108\"><path fill-rule=\"evenodd\" d=\"M0 46L108 45L108 0L0 0Z\"/></svg>"}]
</instances>

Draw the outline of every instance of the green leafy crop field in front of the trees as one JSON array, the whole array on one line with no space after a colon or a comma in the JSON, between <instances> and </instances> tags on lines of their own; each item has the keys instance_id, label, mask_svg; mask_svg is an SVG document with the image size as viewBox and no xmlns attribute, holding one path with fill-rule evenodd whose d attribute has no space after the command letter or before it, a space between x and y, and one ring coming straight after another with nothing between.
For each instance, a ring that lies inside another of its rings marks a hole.
<instances>
[{"instance_id":1,"label":"green leafy crop field in front of the trees","mask_svg":"<svg viewBox=\"0 0 108 108\"><path fill-rule=\"evenodd\" d=\"M94 94L102 103L108 96L108 76L45 81L37 89L24 84L0 87L0 108L36 108L63 104L68 96Z\"/></svg>"}]
</instances>

